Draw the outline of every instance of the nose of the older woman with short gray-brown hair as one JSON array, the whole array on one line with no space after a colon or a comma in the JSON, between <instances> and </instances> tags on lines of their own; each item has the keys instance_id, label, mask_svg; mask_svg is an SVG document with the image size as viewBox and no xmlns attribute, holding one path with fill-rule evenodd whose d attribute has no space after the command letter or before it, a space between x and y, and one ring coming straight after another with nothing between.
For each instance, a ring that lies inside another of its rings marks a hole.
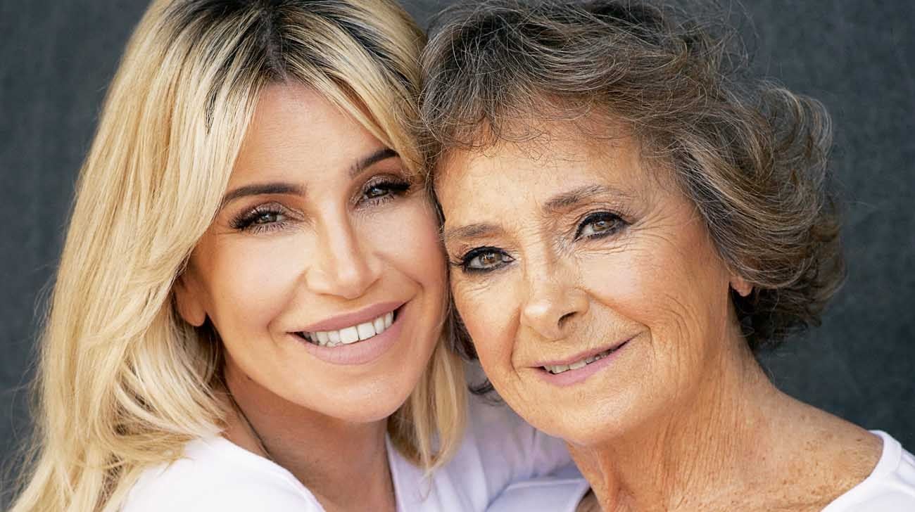
<instances>
[{"instance_id":1,"label":"nose of the older woman with short gray-brown hair","mask_svg":"<svg viewBox=\"0 0 915 512\"><path fill-rule=\"evenodd\" d=\"M521 323L546 340L568 336L575 319L587 313L587 293L558 265L529 270L527 288Z\"/></svg>"}]
</instances>

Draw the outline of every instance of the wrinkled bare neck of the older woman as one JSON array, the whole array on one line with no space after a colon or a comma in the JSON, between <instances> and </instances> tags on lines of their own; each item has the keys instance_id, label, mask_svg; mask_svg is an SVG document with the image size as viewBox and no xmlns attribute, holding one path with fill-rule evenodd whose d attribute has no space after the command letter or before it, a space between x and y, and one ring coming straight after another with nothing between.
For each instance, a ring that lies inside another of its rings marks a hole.
<instances>
[{"instance_id":1,"label":"wrinkled bare neck of the older woman","mask_svg":"<svg viewBox=\"0 0 915 512\"><path fill-rule=\"evenodd\" d=\"M603 510L715 510L770 485L779 418L797 402L772 386L747 347L734 347L673 407L597 445L569 445Z\"/></svg>"}]
</instances>

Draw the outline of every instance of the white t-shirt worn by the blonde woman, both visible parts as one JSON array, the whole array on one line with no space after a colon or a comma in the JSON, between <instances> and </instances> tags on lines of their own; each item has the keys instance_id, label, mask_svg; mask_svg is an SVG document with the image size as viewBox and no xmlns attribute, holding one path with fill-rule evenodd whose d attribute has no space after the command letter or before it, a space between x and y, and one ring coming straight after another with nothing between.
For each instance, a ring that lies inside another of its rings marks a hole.
<instances>
[{"instance_id":1,"label":"white t-shirt worn by the blonde woman, both visible parts","mask_svg":"<svg viewBox=\"0 0 915 512\"><path fill-rule=\"evenodd\" d=\"M426 478L422 469L404 460L390 443L388 463L400 512L482 512L490 504L500 512L574 511L588 489L587 481L571 464L565 443L534 430L507 406L492 405L476 396L469 399L465 437L447 464ZM188 443L184 457L175 463L145 470L122 510L324 509L283 467L213 436Z\"/></svg>"}]
</instances>

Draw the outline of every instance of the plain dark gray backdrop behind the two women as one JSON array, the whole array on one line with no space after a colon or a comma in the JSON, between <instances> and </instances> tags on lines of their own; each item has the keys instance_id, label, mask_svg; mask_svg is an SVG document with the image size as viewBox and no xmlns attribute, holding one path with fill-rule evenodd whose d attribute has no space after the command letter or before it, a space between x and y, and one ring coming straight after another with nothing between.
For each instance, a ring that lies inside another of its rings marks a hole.
<instances>
[{"instance_id":1,"label":"plain dark gray backdrop behind the two women","mask_svg":"<svg viewBox=\"0 0 915 512\"><path fill-rule=\"evenodd\" d=\"M726 0L727 1L727 0ZM146 0L0 2L0 458L25 385L72 188ZM447 0L411 0L425 20ZM877 6L879 5L879 6ZM752 0L759 72L822 100L846 201L849 276L806 339L765 357L782 389L915 448L915 2ZM0 485L0 491L8 484ZM0 496L0 508L8 497Z\"/></svg>"}]
</instances>

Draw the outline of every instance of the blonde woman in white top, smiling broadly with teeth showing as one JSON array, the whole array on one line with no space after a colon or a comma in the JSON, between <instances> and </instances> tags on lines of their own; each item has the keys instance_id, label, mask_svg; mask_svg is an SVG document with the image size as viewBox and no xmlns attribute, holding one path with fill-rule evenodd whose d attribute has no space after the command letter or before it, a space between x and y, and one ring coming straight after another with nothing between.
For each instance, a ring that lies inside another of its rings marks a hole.
<instances>
[{"instance_id":1,"label":"blonde woman in white top, smiling broadly with teeth showing","mask_svg":"<svg viewBox=\"0 0 915 512\"><path fill-rule=\"evenodd\" d=\"M575 507L580 480L507 489L568 455L468 400L442 335L423 43L384 0L149 7L81 172L13 512Z\"/></svg>"}]
</instances>

